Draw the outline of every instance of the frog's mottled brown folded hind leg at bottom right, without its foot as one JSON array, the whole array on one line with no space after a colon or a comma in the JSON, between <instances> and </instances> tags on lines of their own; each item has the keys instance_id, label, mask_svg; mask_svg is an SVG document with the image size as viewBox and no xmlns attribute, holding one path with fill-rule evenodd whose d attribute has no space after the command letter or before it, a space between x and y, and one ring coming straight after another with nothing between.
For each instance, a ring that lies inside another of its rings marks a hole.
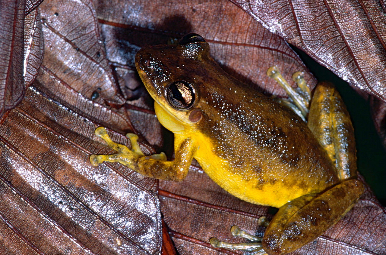
<instances>
[{"instance_id":1,"label":"frog's mottled brown folded hind leg at bottom right, without its foot","mask_svg":"<svg viewBox=\"0 0 386 255\"><path fill-rule=\"evenodd\" d=\"M352 179L281 206L264 233L264 251L285 254L311 242L344 216L363 190L362 182Z\"/></svg>"}]
</instances>

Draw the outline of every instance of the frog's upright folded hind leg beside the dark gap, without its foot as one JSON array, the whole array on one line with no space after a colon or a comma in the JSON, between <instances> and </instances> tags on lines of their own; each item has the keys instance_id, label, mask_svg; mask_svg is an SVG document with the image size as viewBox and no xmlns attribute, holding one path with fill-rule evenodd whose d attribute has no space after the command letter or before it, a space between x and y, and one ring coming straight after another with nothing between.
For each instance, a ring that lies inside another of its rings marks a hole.
<instances>
[{"instance_id":1,"label":"frog's upright folded hind leg beside the dark gap, without its foot","mask_svg":"<svg viewBox=\"0 0 386 255\"><path fill-rule=\"evenodd\" d=\"M339 178L356 176L354 128L332 83L320 82L316 87L307 125L334 163Z\"/></svg>"}]
</instances>

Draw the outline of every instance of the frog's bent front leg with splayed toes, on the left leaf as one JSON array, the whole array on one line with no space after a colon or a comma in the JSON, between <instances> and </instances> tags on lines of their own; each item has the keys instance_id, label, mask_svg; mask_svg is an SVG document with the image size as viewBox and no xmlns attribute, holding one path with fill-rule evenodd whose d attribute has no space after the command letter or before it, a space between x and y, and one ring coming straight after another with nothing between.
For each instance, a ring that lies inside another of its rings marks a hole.
<instances>
[{"instance_id":1,"label":"frog's bent front leg with splayed toes, on the left leaf","mask_svg":"<svg viewBox=\"0 0 386 255\"><path fill-rule=\"evenodd\" d=\"M119 162L144 176L170 181L182 181L188 173L190 163L196 151L196 146L190 138L183 139L176 144L174 161L166 161L164 153L145 156L137 143L138 136L127 134L132 144L130 150L122 144L114 143L108 136L106 129L98 127L95 135L106 141L110 148L118 151L112 155L91 155L90 162L94 166L106 162Z\"/></svg>"}]
</instances>

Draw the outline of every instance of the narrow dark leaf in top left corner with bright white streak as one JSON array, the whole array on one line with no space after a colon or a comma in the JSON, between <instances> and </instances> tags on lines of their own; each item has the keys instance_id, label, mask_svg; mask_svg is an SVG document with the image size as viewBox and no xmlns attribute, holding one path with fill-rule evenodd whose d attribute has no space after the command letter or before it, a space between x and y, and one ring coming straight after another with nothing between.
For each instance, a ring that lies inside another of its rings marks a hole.
<instances>
[{"instance_id":1,"label":"narrow dark leaf in top left corner with bright white streak","mask_svg":"<svg viewBox=\"0 0 386 255\"><path fill-rule=\"evenodd\" d=\"M0 117L23 99L25 87L36 78L41 65L41 22L35 9L38 4L39 1L2 1Z\"/></svg>"}]
</instances>

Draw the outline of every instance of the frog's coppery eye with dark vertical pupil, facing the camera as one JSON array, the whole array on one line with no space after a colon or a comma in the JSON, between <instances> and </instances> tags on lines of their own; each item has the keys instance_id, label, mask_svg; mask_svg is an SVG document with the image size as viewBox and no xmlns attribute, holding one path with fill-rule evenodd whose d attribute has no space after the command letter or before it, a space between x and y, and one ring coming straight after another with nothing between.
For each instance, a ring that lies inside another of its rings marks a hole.
<instances>
[{"instance_id":1,"label":"frog's coppery eye with dark vertical pupil, facing the camera","mask_svg":"<svg viewBox=\"0 0 386 255\"><path fill-rule=\"evenodd\" d=\"M181 110L186 110L193 105L195 94L193 87L185 81L177 81L168 87L169 103Z\"/></svg>"}]
</instances>

